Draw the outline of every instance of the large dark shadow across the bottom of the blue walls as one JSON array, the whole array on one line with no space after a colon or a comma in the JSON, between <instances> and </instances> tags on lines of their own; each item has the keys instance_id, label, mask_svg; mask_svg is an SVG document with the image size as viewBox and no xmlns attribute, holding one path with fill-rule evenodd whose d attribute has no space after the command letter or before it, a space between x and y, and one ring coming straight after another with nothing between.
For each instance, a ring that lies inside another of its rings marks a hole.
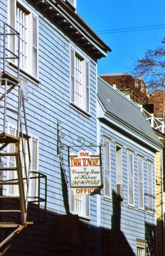
<instances>
[{"instance_id":1,"label":"large dark shadow across the bottom of the blue walls","mask_svg":"<svg viewBox=\"0 0 165 256\"><path fill-rule=\"evenodd\" d=\"M67 205L68 207L68 205ZM28 220L37 220L29 209ZM43 212L40 211L40 216ZM112 228L97 228L74 214L57 215L47 211L45 223L35 223L15 239L6 256L135 256L120 230L121 203L113 192ZM146 224L152 241L155 227ZM98 239L99 238L99 239ZM148 254L150 255L150 254ZM152 254L154 255L154 253Z\"/></svg>"}]
</instances>

